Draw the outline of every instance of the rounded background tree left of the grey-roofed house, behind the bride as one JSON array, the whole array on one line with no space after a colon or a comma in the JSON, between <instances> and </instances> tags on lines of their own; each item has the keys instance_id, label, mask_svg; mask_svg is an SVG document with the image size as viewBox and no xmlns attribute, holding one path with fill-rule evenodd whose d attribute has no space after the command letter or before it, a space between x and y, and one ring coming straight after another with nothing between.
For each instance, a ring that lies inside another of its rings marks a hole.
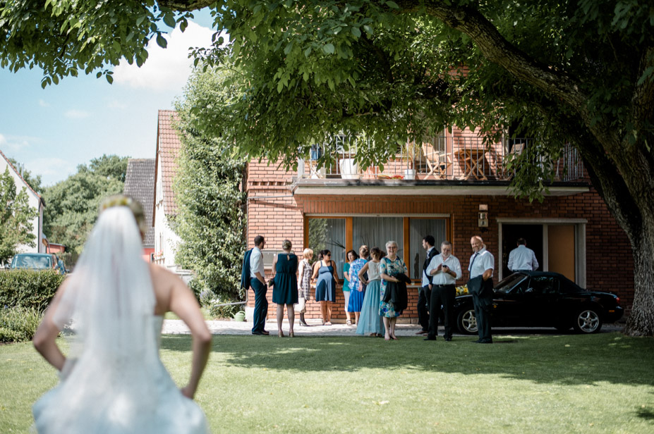
<instances>
[{"instance_id":1,"label":"rounded background tree left of the grey-roofed house, behind the bride","mask_svg":"<svg viewBox=\"0 0 654 434\"><path fill-rule=\"evenodd\" d=\"M92 159L89 166L80 164L77 173L44 190L43 232L50 242L82 252L102 199L123 191L128 159L116 155Z\"/></svg>"}]
</instances>

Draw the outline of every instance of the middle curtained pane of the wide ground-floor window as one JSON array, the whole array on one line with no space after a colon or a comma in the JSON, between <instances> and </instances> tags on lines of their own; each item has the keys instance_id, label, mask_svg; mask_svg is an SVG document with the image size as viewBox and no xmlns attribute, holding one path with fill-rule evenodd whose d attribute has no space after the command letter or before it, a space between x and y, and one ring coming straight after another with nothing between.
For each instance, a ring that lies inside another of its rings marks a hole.
<instances>
[{"instance_id":1,"label":"middle curtained pane of the wide ground-floor window","mask_svg":"<svg viewBox=\"0 0 654 434\"><path fill-rule=\"evenodd\" d=\"M352 246L356 252L363 244L370 249L379 247L386 250L386 242L397 242L397 256L405 259L402 247L402 218L401 217L354 217L352 218Z\"/></svg>"}]
</instances>

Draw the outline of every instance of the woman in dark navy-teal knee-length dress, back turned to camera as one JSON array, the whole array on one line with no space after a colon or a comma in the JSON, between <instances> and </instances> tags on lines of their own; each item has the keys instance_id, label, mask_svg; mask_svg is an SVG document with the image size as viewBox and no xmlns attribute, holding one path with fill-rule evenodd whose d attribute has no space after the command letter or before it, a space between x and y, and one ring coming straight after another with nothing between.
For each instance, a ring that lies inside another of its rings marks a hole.
<instances>
[{"instance_id":1,"label":"woman in dark navy-teal knee-length dress, back turned to camera","mask_svg":"<svg viewBox=\"0 0 654 434\"><path fill-rule=\"evenodd\" d=\"M293 323L295 323L295 311L293 304L298 302L298 256L291 252L291 242L284 240L281 249L284 252L275 256L273 268L274 286L272 287L272 302L277 304L277 335L284 337L281 331L281 321L284 320L284 304L286 304L286 315L289 317L289 336L293 337Z\"/></svg>"}]
</instances>

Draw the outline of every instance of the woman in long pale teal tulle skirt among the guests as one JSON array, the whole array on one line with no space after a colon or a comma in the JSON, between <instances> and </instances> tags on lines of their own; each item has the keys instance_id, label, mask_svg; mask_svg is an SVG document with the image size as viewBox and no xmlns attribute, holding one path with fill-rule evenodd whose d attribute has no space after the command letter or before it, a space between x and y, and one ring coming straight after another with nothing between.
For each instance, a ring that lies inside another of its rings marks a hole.
<instances>
[{"instance_id":1,"label":"woman in long pale teal tulle skirt among the guests","mask_svg":"<svg viewBox=\"0 0 654 434\"><path fill-rule=\"evenodd\" d=\"M358 278L365 285L365 296L361 306L361 316L359 316L359 325L356 328L357 335L382 337L384 333L384 321L380 315L380 288L382 280L380 278L380 261L384 257L384 252L379 247L373 247L370 250L371 261L365 263ZM368 279L365 274L368 273Z\"/></svg>"}]
</instances>

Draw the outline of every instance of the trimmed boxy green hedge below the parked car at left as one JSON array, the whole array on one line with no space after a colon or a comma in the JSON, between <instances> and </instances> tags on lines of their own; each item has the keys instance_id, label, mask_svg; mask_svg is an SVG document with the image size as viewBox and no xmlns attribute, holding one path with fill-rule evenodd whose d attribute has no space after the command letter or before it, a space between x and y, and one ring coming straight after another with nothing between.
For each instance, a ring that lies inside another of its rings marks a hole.
<instances>
[{"instance_id":1,"label":"trimmed boxy green hedge below the parked car at left","mask_svg":"<svg viewBox=\"0 0 654 434\"><path fill-rule=\"evenodd\" d=\"M0 272L0 309L28 307L43 311L63 278L54 271Z\"/></svg>"}]
</instances>

